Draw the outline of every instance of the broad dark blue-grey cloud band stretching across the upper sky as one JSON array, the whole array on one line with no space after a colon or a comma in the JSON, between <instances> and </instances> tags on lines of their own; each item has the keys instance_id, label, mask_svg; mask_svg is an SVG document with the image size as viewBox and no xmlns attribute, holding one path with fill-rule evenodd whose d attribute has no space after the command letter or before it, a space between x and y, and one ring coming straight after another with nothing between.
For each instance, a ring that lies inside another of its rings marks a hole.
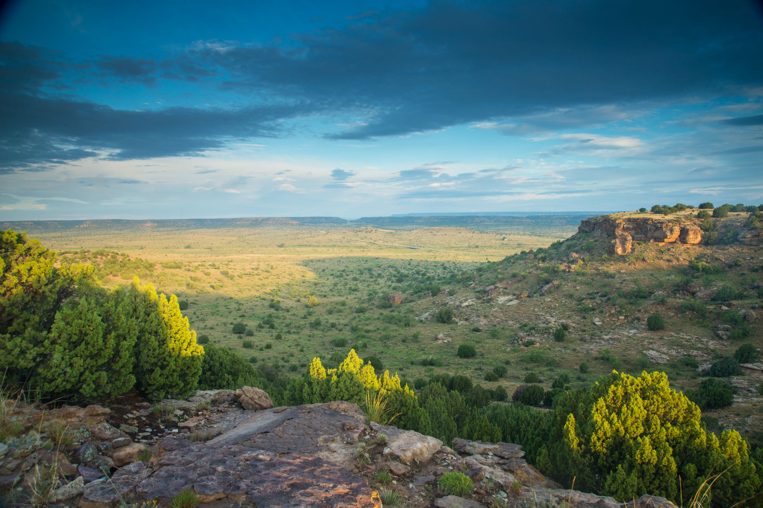
<instances>
[{"instance_id":1,"label":"broad dark blue-grey cloud band stretching across the upper sky","mask_svg":"<svg viewBox=\"0 0 763 508\"><path fill-rule=\"evenodd\" d=\"M417 11L364 13L267 46L200 43L160 59L72 63L5 43L0 168L45 168L97 153L201 155L232 139L283 136L279 120L307 115L363 117L326 134L333 139L463 123L513 134L594 125L642 104L759 85L763 65L751 64L761 61L763 30L752 3L710 0L442 0ZM117 110L62 94L87 79L198 82L240 94L230 103L241 105ZM755 118L726 123L756 125Z\"/></svg>"}]
</instances>

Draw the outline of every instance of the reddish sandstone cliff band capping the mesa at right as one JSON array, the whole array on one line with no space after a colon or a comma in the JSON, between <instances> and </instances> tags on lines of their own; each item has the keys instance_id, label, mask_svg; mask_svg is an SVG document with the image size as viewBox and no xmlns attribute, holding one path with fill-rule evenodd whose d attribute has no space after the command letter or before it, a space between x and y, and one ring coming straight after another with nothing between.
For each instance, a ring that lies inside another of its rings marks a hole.
<instances>
[{"instance_id":1,"label":"reddish sandstone cliff band capping the mesa at right","mask_svg":"<svg viewBox=\"0 0 763 508\"><path fill-rule=\"evenodd\" d=\"M612 238L612 254L630 254L634 241L650 241L658 244L698 244L702 230L687 222L675 222L653 217L598 216L581 221L578 232L589 233L598 238Z\"/></svg>"}]
</instances>

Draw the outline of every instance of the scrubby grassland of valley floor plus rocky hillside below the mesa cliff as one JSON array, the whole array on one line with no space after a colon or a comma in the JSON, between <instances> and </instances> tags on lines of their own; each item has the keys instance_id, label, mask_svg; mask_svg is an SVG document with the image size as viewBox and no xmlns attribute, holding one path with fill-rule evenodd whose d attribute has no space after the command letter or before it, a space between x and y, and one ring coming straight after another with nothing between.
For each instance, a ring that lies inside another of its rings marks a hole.
<instances>
[{"instance_id":1,"label":"scrubby grassland of valley floor plus rocky hillside below the mesa cliff","mask_svg":"<svg viewBox=\"0 0 763 508\"><path fill-rule=\"evenodd\" d=\"M744 228L746 216L732 213L716 228ZM668 220L698 223L691 212ZM284 374L301 374L314 356L334 366L354 347L410 385L449 372L485 388L501 384L511 394L531 372L549 389L562 373L577 388L612 369L657 369L668 372L674 388L689 390L700 382L698 365L731 355L742 343L763 347L760 320L733 324L740 331L732 340L715 333L729 320L725 309L736 313L761 302L761 247L635 243L632 254L615 257L599 238L559 241L576 231L549 221L500 229L294 225L35 236L66 252L64 262L94 264L106 286L137 275L175 292L188 302L185 314L199 336ZM582 261L566 271L562 264L572 252ZM559 286L541 295L551 282ZM732 291L705 302L681 290L690 283ZM386 303L398 291L401 305ZM523 291L528 297L517 298ZM308 306L310 296L320 303ZM433 319L440 308L455 319ZM665 328L649 331L645 322L655 312ZM241 334L233 333L237 323ZM562 341L554 337L559 328ZM436 342L437 334L450 341ZM465 343L475 347L475 357L456 355ZM497 366L507 373L494 380ZM735 404L706 414L760 441L761 375L745 371L731 379Z\"/></svg>"}]
</instances>

